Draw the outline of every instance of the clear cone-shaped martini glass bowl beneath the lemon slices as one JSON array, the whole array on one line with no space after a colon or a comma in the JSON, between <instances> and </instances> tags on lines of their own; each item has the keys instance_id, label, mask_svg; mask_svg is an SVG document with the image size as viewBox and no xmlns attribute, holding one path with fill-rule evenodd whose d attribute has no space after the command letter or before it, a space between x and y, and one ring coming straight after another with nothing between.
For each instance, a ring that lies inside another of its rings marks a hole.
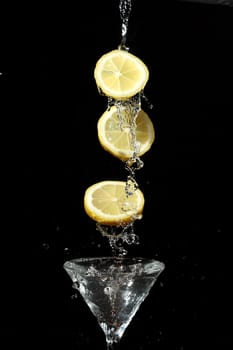
<instances>
[{"instance_id":1,"label":"clear cone-shaped martini glass bowl beneath the lemon slices","mask_svg":"<svg viewBox=\"0 0 233 350\"><path fill-rule=\"evenodd\" d=\"M64 268L103 329L118 342L148 295L164 264L145 258L81 258Z\"/></svg>"}]
</instances>

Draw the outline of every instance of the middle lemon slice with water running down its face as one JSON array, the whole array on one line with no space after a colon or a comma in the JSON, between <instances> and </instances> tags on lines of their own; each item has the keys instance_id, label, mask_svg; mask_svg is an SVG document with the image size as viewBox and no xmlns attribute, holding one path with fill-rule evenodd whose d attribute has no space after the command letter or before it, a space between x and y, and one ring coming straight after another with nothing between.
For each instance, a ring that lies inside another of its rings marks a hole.
<instances>
[{"instance_id":1,"label":"middle lemon slice with water running down its face","mask_svg":"<svg viewBox=\"0 0 233 350\"><path fill-rule=\"evenodd\" d=\"M133 157L146 153L154 142L155 131L151 119L140 110L135 125L135 134L132 134L129 115L124 109L118 116L116 106L104 112L97 123L98 138L101 146L113 156L126 161ZM133 131L134 132L134 131Z\"/></svg>"}]
</instances>

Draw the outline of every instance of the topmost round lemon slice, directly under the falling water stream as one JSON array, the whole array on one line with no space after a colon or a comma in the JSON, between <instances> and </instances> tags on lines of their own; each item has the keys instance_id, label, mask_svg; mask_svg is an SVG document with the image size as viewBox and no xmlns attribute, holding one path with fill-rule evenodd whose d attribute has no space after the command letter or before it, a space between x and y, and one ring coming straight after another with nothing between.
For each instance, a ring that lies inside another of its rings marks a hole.
<instances>
[{"instance_id":1,"label":"topmost round lemon slice, directly under the falling water stream","mask_svg":"<svg viewBox=\"0 0 233 350\"><path fill-rule=\"evenodd\" d=\"M126 99L144 89L149 71L138 57L128 51L113 50L97 61L94 77L105 95Z\"/></svg>"}]
</instances>

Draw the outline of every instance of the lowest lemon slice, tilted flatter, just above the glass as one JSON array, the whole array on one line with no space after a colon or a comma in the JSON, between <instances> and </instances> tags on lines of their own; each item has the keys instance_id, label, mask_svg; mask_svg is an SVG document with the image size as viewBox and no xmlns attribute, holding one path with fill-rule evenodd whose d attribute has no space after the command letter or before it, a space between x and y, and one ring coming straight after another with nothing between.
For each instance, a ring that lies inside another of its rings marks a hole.
<instances>
[{"instance_id":1,"label":"lowest lemon slice, tilted flatter, just above the glass","mask_svg":"<svg viewBox=\"0 0 233 350\"><path fill-rule=\"evenodd\" d=\"M127 224L140 219L144 207L144 195L137 189L126 196L126 182L102 181L86 190L84 209L94 221L110 226Z\"/></svg>"}]
</instances>

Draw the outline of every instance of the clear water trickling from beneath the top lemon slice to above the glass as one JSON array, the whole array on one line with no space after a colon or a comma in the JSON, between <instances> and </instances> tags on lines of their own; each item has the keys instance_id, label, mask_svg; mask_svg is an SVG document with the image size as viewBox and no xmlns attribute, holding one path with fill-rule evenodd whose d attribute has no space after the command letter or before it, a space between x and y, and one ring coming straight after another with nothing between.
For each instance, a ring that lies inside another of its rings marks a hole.
<instances>
[{"instance_id":1,"label":"clear water trickling from beneath the top lemon slice to above the glass","mask_svg":"<svg viewBox=\"0 0 233 350\"><path fill-rule=\"evenodd\" d=\"M128 160L124 161L124 166L128 173L125 186L126 197L132 196L139 188L136 180L136 171L140 170L144 166L144 162L139 156L140 145L138 144L136 137L136 120L139 112L141 111L142 98L146 100L149 108L153 107L145 97L143 91L125 100L116 100L112 97L108 97L108 110L112 106L115 106L120 129L122 131L125 129L129 131L132 156ZM123 257L128 253L124 247L125 244L139 244L139 237L134 233L134 222L137 219L141 219L142 215L136 215L136 208L128 206L127 202L122 205L121 210L130 210L133 212L129 224L123 223L119 224L117 227L111 227L97 223L96 228L104 237L108 238L113 255Z\"/></svg>"}]
</instances>

